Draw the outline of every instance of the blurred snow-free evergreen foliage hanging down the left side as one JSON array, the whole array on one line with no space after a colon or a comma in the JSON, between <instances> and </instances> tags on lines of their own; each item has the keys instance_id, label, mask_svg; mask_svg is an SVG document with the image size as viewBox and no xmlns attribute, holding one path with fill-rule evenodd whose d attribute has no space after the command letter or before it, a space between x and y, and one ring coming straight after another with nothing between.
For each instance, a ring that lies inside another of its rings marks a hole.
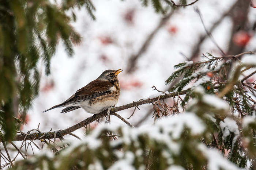
<instances>
[{"instance_id":1,"label":"blurred snow-free evergreen foliage hanging down the left side","mask_svg":"<svg viewBox=\"0 0 256 170\"><path fill-rule=\"evenodd\" d=\"M61 7L49 0L4 0L0 2L0 109L1 130L11 140L16 134L13 116L24 120L33 99L38 95L40 75L37 63L43 60L46 74L50 59L62 42L68 56L74 55L73 44L80 35L71 27L75 14L65 11L86 7L92 18L95 10L90 0L65 0ZM14 113L18 101L19 113Z\"/></svg>"}]
</instances>

